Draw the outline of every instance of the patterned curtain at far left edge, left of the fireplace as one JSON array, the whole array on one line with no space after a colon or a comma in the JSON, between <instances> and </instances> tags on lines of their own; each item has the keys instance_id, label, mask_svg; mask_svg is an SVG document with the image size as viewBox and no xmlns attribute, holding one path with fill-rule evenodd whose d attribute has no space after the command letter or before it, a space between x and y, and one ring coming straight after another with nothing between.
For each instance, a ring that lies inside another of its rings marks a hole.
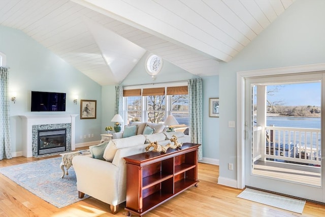
<instances>
[{"instance_id":1,"label":"patterned curtain at far left edge, left of the fireplace","mask_svg":"<svg viewBox=\"0 0 325 217\"><path fill-rule=\"evenodd\" d=\"M9 130L8 84L8 68L0 67L0 160L12 158Z\"/></svg>"}]
</instances>

